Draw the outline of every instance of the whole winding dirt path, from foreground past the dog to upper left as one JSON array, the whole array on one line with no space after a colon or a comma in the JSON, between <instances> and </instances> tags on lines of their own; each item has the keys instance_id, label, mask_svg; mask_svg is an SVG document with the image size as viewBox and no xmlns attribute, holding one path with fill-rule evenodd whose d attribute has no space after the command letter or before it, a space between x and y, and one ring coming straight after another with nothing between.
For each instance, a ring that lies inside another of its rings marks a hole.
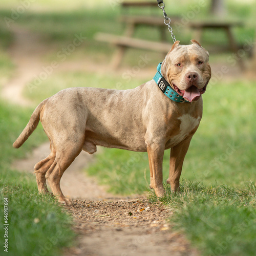
<instances>
[{"instance_id":1,"label":"whole winding dirt path, from foreground past the dog to upper left","mask_svg":"<svg viewBox=\"0 0 256 256\"><path fill-rule=\"evenodd\" d=\"M14 44L10 54L17 70L2 92L12 102L30 105L22 97L22 90L41 71L40 58L47 47L29 31L18 27L13 27L12 31ZM66 69L67 65L65 63ZM70 70L74 70L74 65ZM12 167L32 173L35 163L48 154L47 142ZM66 249L63 255L198 255L181 234L170 230L166 218L172 211L148 203L143 196L125 198L106 193L95 179L82 172L93 161L94 156L82 152L61 179L63 194L74 200L74 207L65 207L73 215L74 229L78 233L76 247Z\"/></svg>"}]
</instances>

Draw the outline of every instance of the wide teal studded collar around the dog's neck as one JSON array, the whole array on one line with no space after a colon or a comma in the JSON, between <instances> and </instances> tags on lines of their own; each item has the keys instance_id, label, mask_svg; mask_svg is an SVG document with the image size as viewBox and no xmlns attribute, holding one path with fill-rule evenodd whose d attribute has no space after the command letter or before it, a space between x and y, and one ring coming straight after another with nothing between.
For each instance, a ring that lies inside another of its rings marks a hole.
<instances>
[{"instance_id":1,"label":"wide teal studded collar around the dog's neck","mask_svg":"<svg viewBox=\"0 0 256 256\"><path fill-rule=\"evenodd\" d=\"M173 101L180 102L180 103L189 102L189 101L185 100L182 96L180 96L176 91L174 91L172 87L170 87L170 84L162 76L161 66L162 66L162 62L160 62L158 64L157 73L153 77L153 79L157 83L157 85L160 88L160 90L162 91L162 93Z\"/></svg>"}]
</instances>

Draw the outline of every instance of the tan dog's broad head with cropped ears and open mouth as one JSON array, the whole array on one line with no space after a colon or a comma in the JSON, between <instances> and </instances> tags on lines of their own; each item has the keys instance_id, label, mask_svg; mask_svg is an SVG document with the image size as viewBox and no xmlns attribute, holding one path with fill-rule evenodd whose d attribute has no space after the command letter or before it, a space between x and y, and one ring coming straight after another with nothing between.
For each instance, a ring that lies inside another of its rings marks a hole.
<instances>
[{"instance_id":1,"label":"tan dog's broad head with cropped ears and open mouth","mask_svg":"<svg viewBox=\"0 0 256 256\"><path fill-rule=\"evenodd\" d=\"M162 74L179 95L189 102L196 101L206 91L211 77L209 53L196 40L187 46L179 42L166 55Z\"/></svg>"}]
</instances>

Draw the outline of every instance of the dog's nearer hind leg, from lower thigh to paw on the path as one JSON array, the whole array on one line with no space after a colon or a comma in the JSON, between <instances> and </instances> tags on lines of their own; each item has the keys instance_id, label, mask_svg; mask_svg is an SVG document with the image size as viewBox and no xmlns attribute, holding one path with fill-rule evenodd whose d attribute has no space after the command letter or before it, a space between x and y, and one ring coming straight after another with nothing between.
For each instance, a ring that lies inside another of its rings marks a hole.
<instances>
[{"instance_id":1,"label":"dog's nearer hind leg, from lower thigh to paw on the path","mask_svg":"<svg viewBox=\"0 0 256 256\"><path fill-rule=\"evenodd\" d=\"M79 141L79 142L78 142ZM81 140L67 139L59 141L59 145L54 144L56 150L56 157L47 170L46 178L52 189L53 195L57 196L60 203L72 205L72 200L66 198L60 189L60 179L65 170L70 166L74 159L80 154L82 150L84 137Z\"/></svg>"}]
</instances>

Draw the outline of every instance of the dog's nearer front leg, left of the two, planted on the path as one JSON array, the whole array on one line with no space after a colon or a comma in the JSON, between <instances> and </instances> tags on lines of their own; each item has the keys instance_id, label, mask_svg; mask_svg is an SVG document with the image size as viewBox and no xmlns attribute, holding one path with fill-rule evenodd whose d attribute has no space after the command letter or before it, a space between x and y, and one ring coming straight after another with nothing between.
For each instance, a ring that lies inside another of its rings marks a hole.
<instances>
[{"instance_id":1,"label":"dog's nearer front leg, left of the two, planted on the path","mask_svg":"<svg viewBox=\"0 0 256 256\"><path fill-rule=\"evenodd\" d=\"M148 162L150 163L150 187L154 188L157 197L165 194L163 188L163 154L162 144L152 143L147 145Z\"/></svg>"}]
</instances>

